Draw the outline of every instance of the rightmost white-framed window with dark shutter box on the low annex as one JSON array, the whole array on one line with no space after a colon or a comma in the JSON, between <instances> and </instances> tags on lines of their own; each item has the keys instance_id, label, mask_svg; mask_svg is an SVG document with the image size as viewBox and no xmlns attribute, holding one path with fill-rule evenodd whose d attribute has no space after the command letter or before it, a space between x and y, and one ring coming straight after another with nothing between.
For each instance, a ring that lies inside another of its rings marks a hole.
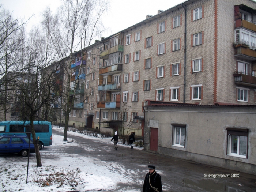
<instances>
[{"instance_id":1,"label":"rightmost white-framed window with dark shutter box on the low annex","mask_svg":"<svg viewBox=\"0 0 256 192\"><path fill-rule=\"evenodd\" d=\"M227 129L227 155L247 158L248 129Z\"/></svg>"}]
</instances>

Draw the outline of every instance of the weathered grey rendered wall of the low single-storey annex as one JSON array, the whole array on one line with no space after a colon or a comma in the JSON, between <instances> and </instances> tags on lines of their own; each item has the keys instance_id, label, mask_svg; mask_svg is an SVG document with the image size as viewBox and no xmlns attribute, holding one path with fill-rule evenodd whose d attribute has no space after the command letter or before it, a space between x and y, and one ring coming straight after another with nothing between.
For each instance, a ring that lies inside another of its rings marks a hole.
<instances>
[{"instance_id":1,"label":"weathered grey rendered wall of the low single-storey annex","mask_svg":"<svg viewBox=\"0 0 256 192\"><path fill-rule=\"evenodd\" d=\"M150 126L158 128L158 153L256 174L256 107L147 107L144 148ZM153 117L155 116L155 117ZM152 121L155 123L153 124ZM186 125L185 147L173 146L173 126ZM227 155L226 128L249 129L248 158Z\"/></svg>"}]
</instances>

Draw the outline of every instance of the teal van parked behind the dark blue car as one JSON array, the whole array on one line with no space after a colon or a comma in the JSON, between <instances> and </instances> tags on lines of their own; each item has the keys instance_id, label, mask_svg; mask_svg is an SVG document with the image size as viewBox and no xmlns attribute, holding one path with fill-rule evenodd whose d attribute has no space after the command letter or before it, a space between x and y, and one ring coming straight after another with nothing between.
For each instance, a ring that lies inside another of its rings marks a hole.
<instances>
[{"instance_id":1,"label":"teal van parked behind the dark blue car","mask_svg":"<svg viewBox=\"0 0 256 192\"><path fill-rule=\"evenodd\" d=\"M52 145L52 123L49 121L34 121L36 138L39 137L38 148ZM0 136L3 134L15 134L21 132L31 132L30 121L1 121ZM31 135L32 138L32 135Z\"/></svg>"}]
</instances>

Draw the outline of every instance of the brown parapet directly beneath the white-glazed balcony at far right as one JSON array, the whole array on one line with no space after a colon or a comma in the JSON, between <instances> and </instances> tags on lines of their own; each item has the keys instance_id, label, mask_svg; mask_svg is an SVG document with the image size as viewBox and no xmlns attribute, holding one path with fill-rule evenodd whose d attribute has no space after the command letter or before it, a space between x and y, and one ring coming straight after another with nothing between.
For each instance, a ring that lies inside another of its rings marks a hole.
<instances>
[{"instance_id":1,"label":"brown parapet directly beneath the white-glazed balcony at far right","mask_svg":"<svg viewBox=\"0 0 256 192\"><path fill-rule=\"evenodd\" d=\"M249 48L248 45L245 44L236 44L234 45L235 48L235 56L241 60L249 60L255 61L256 60L256 50L253 48Z\"/></svg>"}]
</instances>

